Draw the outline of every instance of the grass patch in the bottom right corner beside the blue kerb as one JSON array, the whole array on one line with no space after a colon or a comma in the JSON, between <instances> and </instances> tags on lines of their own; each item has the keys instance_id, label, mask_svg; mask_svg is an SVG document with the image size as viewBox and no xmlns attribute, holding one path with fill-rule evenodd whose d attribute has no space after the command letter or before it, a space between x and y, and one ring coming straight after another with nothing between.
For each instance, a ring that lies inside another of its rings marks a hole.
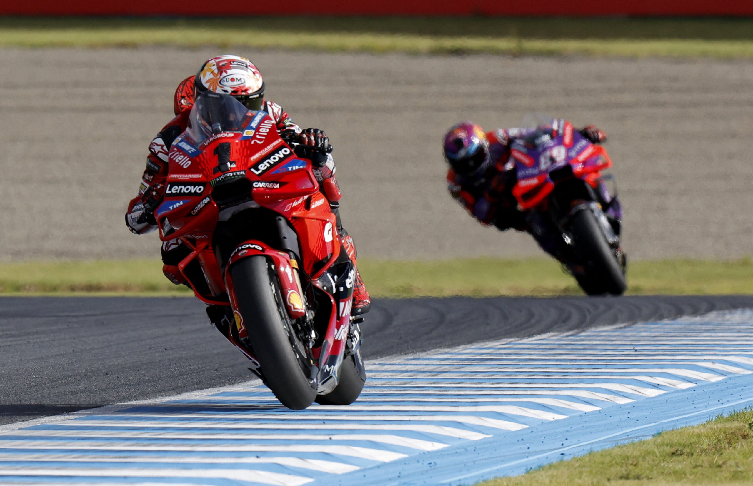
<instances>
[{"instance_id":1,"label":"grass patch in the bottom right corner beside the blue kerb","mask_svg":"<svg viewBox=\"0 0 753 486\"><path fill-rule=\"evenodd\" d=\"M753 484L753 412L553 463L479 486Z\"/></svg>"}]
</instances>

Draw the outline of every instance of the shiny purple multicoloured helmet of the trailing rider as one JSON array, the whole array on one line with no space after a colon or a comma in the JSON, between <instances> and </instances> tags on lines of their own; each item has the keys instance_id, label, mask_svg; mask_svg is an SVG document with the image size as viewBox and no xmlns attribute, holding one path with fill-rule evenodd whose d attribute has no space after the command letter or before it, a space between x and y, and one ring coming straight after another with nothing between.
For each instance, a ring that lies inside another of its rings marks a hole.
<instances>
[{"instance_id":1,"label":"shiny purple multicoloured helmet of the trailing rider","mask_svg":"<svg viewBox=\"0 0 753 486\"><path fill-rule=\"evenodd\" d=\"M479 175L489 166L489 142L472 122L458 123L444 135L444 158L458 175Z\"/></svg>"}]
</instances>

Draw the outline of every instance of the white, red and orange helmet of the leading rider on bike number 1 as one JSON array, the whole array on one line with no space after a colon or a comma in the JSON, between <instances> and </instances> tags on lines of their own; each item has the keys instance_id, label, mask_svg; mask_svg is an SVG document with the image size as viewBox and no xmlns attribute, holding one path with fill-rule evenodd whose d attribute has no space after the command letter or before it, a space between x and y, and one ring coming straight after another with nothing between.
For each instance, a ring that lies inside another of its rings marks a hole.
<instances>
[{"instance_id":1,"label":"white, red and orange helmet of the leading rider on bike number 1","mask_svg":"<svg viewBox=\"0 0 753 486\"><path fill-rule=\"evenodd\" d=\"M194 78L196 95L211 91L233 96L249 110L264 105L264 80L253 62L238 56L212 57Z\"/></svg>"}]
</instances>

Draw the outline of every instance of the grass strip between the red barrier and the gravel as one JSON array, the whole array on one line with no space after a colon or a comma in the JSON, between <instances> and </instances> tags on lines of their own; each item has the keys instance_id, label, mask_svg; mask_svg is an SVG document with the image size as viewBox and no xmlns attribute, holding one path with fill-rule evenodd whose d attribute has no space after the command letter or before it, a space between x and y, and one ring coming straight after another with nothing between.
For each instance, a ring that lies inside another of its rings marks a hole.
<instances>
[{"instance_id":1,"label":"grass strip between the red barrier and the gravel","mask_svg":"<svg viewBox=\"0 0 753 486\"><path fill-rule=\"evenodd\" d=\"M753 19L0 17L0 47L139 45L750 58L753 57Z\"/></svg>"}]
</instances>

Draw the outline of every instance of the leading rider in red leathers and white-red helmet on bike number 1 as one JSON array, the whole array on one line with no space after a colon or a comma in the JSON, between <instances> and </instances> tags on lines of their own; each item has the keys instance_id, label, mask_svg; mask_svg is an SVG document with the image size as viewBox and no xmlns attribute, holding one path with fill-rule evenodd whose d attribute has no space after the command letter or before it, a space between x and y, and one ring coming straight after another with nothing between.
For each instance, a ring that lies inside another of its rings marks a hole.
<instances>
[{"instance_id":1,"label":"leading rider in red leathers and white-red helmet on bike number 1","mask_svg":"<svg viewBox=\"0 0 753 486\"><path fill-rule=\"evenodd\" d=\"M370 308L370 297L356 266L357 252L353 238L343 228L340 220L340 187L335 178L334 159L326 150L329 139L320 129L303 130L291 120L280 105L264 98L264 80L261 72L248 59L239 56L218 56L207 60L197 74L189 76L178 84L173 99L175 117L167 123L149 145L146 169L138 195L130 201L126 213L129 229L143 235L157 229L157 220L152 212L162 202L168 176L168 153L172 142L187 127L194 99L206 91L233 96L249 110L266 111L276 123L276 129L286 142L300 144L295 151L299 156L310 159L314 174L319 181L319 189L328 199L332 212L337 217L337 230L343 248L355 267L352 315L365 314ZM191 251L178 240L165 241L162 245L163 273L174 284L185 284L186 278L178 269ZM187 275L191 281L203 280L203 275Z\"/></svg>"}]
</instances>

